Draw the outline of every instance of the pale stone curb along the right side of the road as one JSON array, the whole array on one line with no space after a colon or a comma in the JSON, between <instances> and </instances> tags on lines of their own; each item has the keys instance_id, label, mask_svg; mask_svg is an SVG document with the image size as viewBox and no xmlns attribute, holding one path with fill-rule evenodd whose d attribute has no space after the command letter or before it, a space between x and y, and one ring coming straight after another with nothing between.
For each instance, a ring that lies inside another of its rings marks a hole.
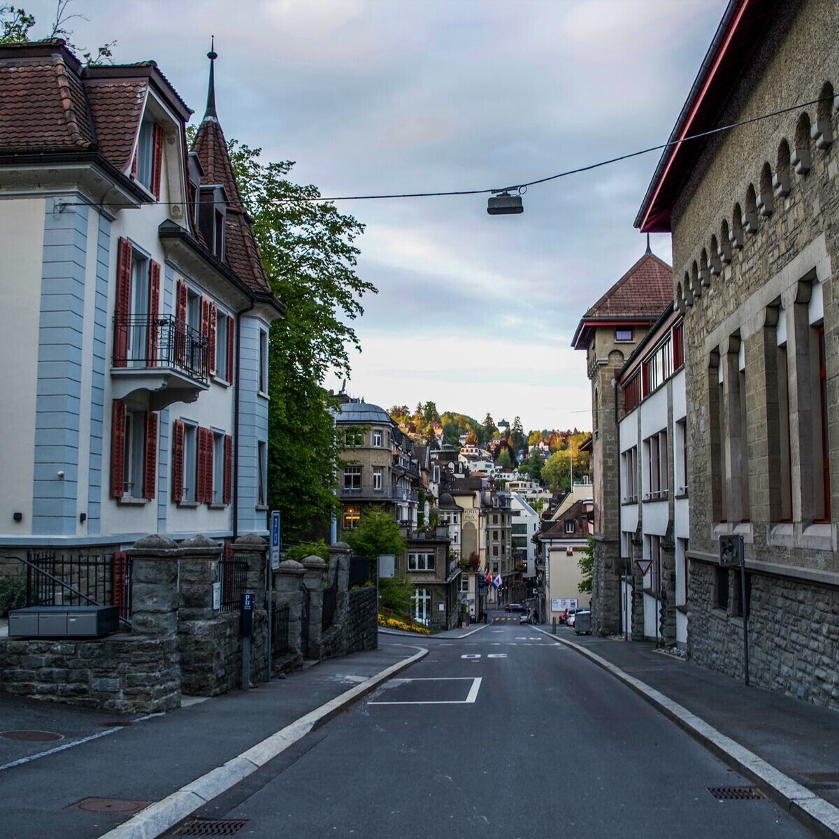
<instances>
[{"instance_id":1,"label":"pale stone curb along the right side of the road","mask_svg":"<svg viewBox=\"0 0 839 839\"><path fill-rule=\"evenodd\" d=\"M538 627L537 627L538 628ZM829 801L820 798L816 793L807 789L798 781L790 778L779 769L775 769L771 763L759 758L757 754L745 746L727 737L716 728L709 725L701 717L691 713L664 696L659 690L647 685L640 679L621 670L617 664L602 658L590 649L581 647L573 641L565 638L557 638L553 633L539 629L539 632L546 635L556 644L563 644L565 647L576 650L577 653L585 656L597 666L607 670L616 679L633 690L650 705L661 711L671 722L675 722L683 731L693 737L698 743L704 746L709 752L716 755L724 763L728 763L740 774L753 781L769 798L776 804L781 805L790 816L807 828L807 830L824 837L824 839L839 839L839 807L835 807Z\"/></svg>"}]
</instances>

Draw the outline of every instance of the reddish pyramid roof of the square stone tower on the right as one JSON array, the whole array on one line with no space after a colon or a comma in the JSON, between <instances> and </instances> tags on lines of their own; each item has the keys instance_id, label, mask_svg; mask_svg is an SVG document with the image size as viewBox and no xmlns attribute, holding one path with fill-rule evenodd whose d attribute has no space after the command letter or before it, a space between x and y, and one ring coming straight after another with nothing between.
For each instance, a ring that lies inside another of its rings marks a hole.
<instances>
[{"instance_id":1,"label":"reddish pyramid roof of the square stone tower on the right","mask_svg":"<svg viewBox=\"0 0 839 839\"><path fill-rule=\"evenodd\" d=\"M588 332L598 323L652 323L672 300L673 269L654 253L644 253L582 316L571 346L585 349Z\"/></svg>"}]
</instances>

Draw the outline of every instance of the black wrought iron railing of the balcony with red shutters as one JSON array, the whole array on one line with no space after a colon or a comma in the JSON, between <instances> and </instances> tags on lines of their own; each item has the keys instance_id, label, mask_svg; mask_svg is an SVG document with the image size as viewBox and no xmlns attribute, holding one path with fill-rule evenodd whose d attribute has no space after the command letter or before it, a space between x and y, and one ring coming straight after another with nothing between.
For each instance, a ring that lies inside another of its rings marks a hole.
<instances>
[{"instance_id":1,"label":"black wrought iron railing of the balcony with red shutters","mask_svg":"<svg viewBox=\"0 0 839 839\"><path fill-rule=\"evenodd\" d=\"M114 315L113 328L114 347L119 347L114 367L175 367L206 383L210 372L207 338L175 315Z\"/></svg>"}]
</instances>

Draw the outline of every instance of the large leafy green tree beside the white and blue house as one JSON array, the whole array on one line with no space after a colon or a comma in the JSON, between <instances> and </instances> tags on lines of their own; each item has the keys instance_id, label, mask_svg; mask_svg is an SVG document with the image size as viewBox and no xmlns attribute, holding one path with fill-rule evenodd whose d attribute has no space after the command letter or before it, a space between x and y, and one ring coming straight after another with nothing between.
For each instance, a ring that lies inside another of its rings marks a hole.
<instances>
[{"instance_id":1,"label":"large leafy green tree beside the white and blue house","mask_svg":"<svg viewBox=\"0 0 839 839\"><path fill-rule=\"evenodd\" d=\"M263 163L261 149L228 143L242 200L284 318L271 326L268 498L291 539L326 525L336 508L341 446L321 387L347 377L347 347L360 351L352 321L376 289L356 274L353 242L363 225L317 201L315 186L287 179L290 161Z\"/></svg>"}]
</instances>

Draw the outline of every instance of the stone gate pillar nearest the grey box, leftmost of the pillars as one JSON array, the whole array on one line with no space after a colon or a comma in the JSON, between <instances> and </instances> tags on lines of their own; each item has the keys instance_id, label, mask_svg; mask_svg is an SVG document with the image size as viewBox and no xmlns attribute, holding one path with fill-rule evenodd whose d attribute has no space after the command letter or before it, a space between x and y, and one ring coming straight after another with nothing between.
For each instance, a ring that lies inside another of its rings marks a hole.
<instances>
[{"instance_id":1,"label":"stone gate pillar nearest the grey box, leftmost of the pillars","mask_svg":"<svg viewBox=\"0 0 839 839\"><path fill-rule=\"evenodd\" d=\"M131 630L135 635L175 635L178 629L178 556L172 539L145 536L126 551L131 570Z\"/></svg>"}]
</instances>

